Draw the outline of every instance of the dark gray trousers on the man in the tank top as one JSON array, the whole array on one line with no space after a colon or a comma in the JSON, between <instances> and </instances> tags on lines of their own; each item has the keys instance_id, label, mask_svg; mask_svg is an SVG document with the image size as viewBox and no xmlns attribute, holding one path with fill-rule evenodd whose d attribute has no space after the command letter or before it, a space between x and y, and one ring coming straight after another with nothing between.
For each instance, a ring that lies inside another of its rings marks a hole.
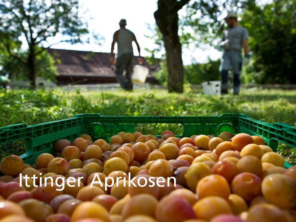
<instances>
[{"instance_id":1,"label":"dark gray trousers on the man in the tank top","mask_svg":"<svg viewBox=\"0 0 296 222\"><path fill-rule=\"evenodd\" d=\"M123 89L133 89L133 83L131 81L131 73L133 70L133 53L125 53L117 58L115 64L115 76ZM126 70L126 75L123 76L123 72Z\"/></svg>"}]
</instances>

